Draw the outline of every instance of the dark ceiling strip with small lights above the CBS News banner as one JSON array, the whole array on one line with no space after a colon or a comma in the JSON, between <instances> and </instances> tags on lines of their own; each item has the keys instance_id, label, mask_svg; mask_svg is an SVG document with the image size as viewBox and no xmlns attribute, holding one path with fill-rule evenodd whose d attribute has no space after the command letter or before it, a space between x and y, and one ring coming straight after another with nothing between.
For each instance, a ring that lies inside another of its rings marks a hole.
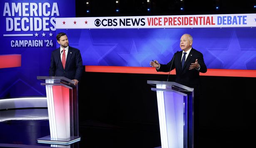
<instances>
[{"instance_id":1,"label":"dark ceiling strip with small lights above the CBS News banner","mask_svg":"<svg viewBox=\"0 0 256 148\"><path fill-rule=\"evenodd\" d=\"M254 5L256 0L76 0L76 17L244 14L256 13Z\"/></svg>"}]
</instances>

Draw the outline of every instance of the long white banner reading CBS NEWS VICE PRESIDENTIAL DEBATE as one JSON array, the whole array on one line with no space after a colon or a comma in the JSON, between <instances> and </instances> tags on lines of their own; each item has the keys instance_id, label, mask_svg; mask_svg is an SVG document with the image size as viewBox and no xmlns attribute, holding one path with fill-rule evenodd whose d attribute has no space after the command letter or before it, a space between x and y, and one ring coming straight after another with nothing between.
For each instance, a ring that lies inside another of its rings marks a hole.
<instances>
[{"instance_id":1,"label":"long white banner reading CBS NEWS VICE PRESIDENTIAL DEBATE","mask_svg":"<svg viewBox=\"0 0 256 148\"><path fill-rule=\"evenodd\" d=\"M256 27L256 14L57 18L57 29Z\"/></svg>"}]
</instances>

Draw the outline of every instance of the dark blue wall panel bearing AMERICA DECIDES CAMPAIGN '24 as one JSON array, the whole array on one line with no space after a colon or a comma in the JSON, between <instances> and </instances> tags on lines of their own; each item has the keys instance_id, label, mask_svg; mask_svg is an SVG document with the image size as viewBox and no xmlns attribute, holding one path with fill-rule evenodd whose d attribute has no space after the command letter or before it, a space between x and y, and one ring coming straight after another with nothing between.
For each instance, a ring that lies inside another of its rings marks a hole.
<instances>
[{"instance_id":1,"label":"dark blue wall panel bearing AMERICA DECIDES CAMPAIGN '24","mask_svg":"<svg viewBox=\"0 0 256 148\"><path fill-rule=\"evenodd\" d=\"M75 0L1 0L0 55L20 54L21 66L0 69L0 98L45 95L56 17L75 17Z\"/></svg>"}]
</instances>

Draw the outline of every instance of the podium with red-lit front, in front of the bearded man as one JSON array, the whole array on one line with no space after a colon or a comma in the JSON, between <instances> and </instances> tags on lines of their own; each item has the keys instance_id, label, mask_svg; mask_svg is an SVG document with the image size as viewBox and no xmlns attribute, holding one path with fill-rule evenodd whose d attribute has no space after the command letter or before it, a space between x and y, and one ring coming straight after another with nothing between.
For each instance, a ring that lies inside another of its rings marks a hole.
<instances>
[{"instance_id":1,"label":"podium with red-lit front, in front of the bearded man","mask_svg":"<svg viewBox=\"0 0 256 148\"><path fill-rule=\"evenodd\" d=\"M37 76L46 88L50 135L38 143L70 145L80 141L78 131L78 87L65 77Z\"/></svg>"}]
</instances>

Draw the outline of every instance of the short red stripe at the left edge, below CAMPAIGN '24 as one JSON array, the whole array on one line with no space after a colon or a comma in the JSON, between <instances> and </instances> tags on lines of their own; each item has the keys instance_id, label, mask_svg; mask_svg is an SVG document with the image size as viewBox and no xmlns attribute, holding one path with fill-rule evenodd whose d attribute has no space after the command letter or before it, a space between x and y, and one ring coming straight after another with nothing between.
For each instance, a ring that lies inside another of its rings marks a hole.
<instances>
[{"instance_id":1,"label":"short red stripe at the left edge, below CAMPAIGN '24","mask_svg":"<svg viewBox=\"0 0 256 148\"><path fill-rule=\"evenodd\" d=\"M0 68L20 67L21 54L0 55Z\"/></svg>"}]
</instances>

